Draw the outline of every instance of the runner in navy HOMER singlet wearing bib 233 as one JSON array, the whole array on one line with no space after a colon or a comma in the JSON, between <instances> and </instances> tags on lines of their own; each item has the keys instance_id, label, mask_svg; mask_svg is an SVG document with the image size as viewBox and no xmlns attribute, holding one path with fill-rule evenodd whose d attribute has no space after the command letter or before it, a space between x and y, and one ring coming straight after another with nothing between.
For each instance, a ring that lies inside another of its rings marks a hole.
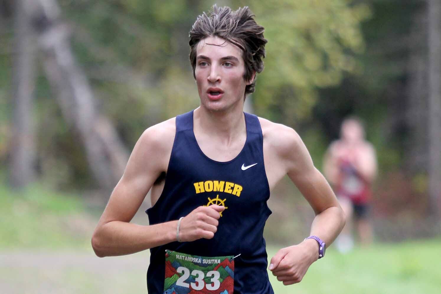
<instances>
[{"instance_id":1,"label":"runner in navy HOMER singlet wearing bib 233","mask_svg":"<svg viewBox=\"0 0 441 294\"><path fill-rule=\"evenodd\" d=\"M273 293L262 234L266 201L285 175L316 216L314 237L271 259L279 281L298 283L344 226L299 135L243 112L265 57L253 16L248 7L216 6L198 16L190 61L200 107L144 131L93 233L100 257L150 249L150 294ZM149 226L129 223L149 190Z\"/></svg>"}]
</instances>

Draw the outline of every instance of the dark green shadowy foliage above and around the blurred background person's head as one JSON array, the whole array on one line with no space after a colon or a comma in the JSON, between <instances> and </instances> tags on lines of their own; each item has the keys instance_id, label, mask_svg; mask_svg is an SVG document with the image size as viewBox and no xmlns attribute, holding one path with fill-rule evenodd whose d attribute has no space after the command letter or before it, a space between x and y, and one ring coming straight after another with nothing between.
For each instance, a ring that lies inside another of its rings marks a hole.
<instances>
[{"instance_id":1,"label":"dark green shadowy foliage above and around the blurred background person's head","mask_svg":"<svg viewBox=\"0 0 441 294\"><path fill-rule=\"evenodd\" d=\"M415 65L408 59L412 46L404 40L409 40L411 30L425 33L423 27L418 27L416 18L425 11L425 3L363 2L368 3L372 11L370 19L360 26L366 43L365 52L358 56L363 71L344 74L339 85L320 89L312 120L319 122L323 136L327 137L325 141L330 142L338 137L344 117L361 117L367 138L377 150L380 175L384 175L408 168L405 166L407 152L415 144L411 130L407 129L411 119L406 109L412 88L409 68ZM426 45L420 46L422 50ZM421 103L425 103L424 99Z\"/></svg>"}]
</instances>

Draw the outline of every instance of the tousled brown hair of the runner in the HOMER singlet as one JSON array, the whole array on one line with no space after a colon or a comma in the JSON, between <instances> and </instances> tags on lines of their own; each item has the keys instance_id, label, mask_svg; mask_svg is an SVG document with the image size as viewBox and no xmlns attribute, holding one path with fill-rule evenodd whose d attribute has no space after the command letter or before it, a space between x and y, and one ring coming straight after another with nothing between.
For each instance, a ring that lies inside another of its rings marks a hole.
<instances>
[{"instance_id":1,"label":"tousled brown hair of the runner in the HOMER singlet","mask_svg":"<svg viewBox=\"0 0 441 294\"><path fill-rule=\"evenodd\" d=\"M232 11L230 7L217 7L213 5L212 12L199 15L189 34L190 37L190 62L193 76L196 68L196 47L206 37L221 37L242 49L245 63L243 78L250 81L254 71L263 71L263 58L265 58L266 39L263 37L265 28L259 26L254 20L254 14L247 6ZM254 93L256 79L245 87L245 96Z\"/></svg>"}]
</instances>

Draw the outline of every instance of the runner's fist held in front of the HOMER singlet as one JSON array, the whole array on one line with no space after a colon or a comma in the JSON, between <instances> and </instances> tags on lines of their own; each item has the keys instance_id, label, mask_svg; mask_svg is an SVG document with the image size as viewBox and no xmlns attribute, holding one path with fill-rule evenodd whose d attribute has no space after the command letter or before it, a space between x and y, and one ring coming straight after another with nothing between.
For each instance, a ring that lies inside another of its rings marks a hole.
<instances>
[{"instance_id":1,"label":"runner's fist held in front of the HOMER singlet","mask_svg":"<svg viewBox=\"0 0 441 294\"><path fill-rule=\"evenodd\" d=\"M179 239L182 242L191 242L201 238L213 238L221 217L219 212L223 212L224 209L224 206L219 205L195 208L181 220Z\"/></svg>"}]
</instances>

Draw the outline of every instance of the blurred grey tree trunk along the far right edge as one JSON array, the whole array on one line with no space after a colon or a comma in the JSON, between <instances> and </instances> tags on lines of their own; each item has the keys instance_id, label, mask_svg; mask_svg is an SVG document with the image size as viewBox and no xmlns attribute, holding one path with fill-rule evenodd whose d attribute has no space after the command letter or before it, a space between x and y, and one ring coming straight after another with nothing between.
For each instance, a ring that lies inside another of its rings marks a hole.
<instances>
[{"instance_id":1,"label":"blurred grey tree trunk along the far right edge","mask_svg":"<svg viewBox=\"0 0 441 294\"><path fill-rule=\"evenodd\" d=\"M428 0L429 19L429 194L441 215L441 2Z\"/></svg>"}]
</instances>

